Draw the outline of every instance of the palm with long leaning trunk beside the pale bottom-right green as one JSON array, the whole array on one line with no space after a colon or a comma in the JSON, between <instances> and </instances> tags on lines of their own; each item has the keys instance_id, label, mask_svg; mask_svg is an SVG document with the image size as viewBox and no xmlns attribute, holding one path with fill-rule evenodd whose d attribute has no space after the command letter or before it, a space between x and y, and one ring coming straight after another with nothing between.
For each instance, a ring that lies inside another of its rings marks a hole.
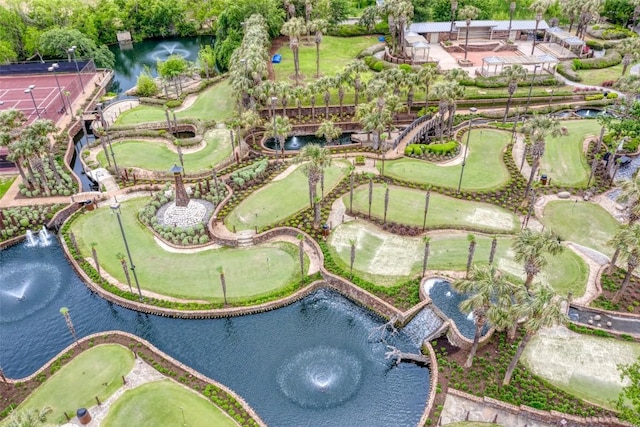
<instances>
[{"instance_id":1,"label":"palm with long leaning trunk beside the pale bottom-right green","mask_svg":"<svg viewBox=\"0 0 640 427\"><path fill-rule=\"evenodd\" d=\"M520 356L531 338L543 328L549 328L567 322L567 315L562 308L562 300L553 290L543 284L536 285L530 295L515 307L515 312L519 318L527 319L524 322L525 335L518 345L516 354L513 356L507 371L504 374L503 385L511 382L511 376L516 369Z\"/></svg>"}]
</instances>

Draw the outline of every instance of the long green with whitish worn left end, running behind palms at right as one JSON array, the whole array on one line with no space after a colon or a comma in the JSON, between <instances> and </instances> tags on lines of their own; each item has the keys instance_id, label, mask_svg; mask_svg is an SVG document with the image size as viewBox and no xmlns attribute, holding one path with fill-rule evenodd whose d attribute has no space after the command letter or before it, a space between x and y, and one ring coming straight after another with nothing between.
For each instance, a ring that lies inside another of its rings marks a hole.
<instances>
[{"instance_id":1,"label":"long green with whitish worn left end, running behind palms at right","mask_svg":"<svg viewBox=\"0 0 640 427\"><path fill-rule=\"evenodd\" d=\"M465 234L437 233L431 236L429 270L464 270L467 264L469 241ZM491 238L476 235L474 264L489 261ZM401 237L386 233L377 227L360 221L352 221L335 228L329 237L329 249L346 270L349 270L351 245L356 243L354 271L379 285L390 286L407 280L422 271L424 244L420 237ZM495 262L502 271L524 283L524 270L513 260L512 238L501 236ZM550 284L558 293L584 294L587 266L570 250L548 258L549 264L537 280Z\"/></svg>"}]
</instances>

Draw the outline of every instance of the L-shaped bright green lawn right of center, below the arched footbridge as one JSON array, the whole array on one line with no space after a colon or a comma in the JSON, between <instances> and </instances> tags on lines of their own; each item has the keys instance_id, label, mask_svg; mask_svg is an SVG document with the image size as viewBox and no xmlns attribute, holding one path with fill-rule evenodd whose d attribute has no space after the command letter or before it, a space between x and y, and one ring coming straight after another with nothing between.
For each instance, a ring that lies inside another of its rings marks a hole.
<instances>
[{"instance_id":1,"label":"L-shaped bright green lawn right of center, below the arched footbridge","mask_svg":"<svg viewBox=\"0 0 640 427\"><path fill-rule=\"evenodd\" d=\"M463 141L466 142L466 135ZM498 130L473 130L469 141L469 156L462 178L463 190L488 190L504 185L509 172L502 161L502 151L510 142L511 134ZM461 148L464 151L464 147ZM378 162L378 168L381 167ZM433 184L457 188L461 164L438 166L437 164L400 159L385 162L385 174L418 184Z\"/></svg>"}]
</instances>

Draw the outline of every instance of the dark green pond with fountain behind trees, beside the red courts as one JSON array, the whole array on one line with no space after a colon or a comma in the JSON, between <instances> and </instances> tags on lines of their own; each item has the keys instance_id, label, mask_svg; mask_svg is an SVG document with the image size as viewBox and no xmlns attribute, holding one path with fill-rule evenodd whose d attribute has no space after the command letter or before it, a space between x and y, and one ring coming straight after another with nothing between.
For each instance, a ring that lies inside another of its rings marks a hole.
<instances>
[{"instance_id":1,"label":"dark green pond with fountain behind trees, beside the red courts","mask_svg":"<svg viewBox=\"0 0 640 427\"><path fill-rule=\"evenodd\" d=\"M118 45L109 49L116 56L114 66L114 78L110 87L111 92L119 95L134 87L138 82L138 76L145 66L148 66L154 76L158 60L166 60L169 55L181 55L189 61L198 59L200 46L213 44L213 37L173 37L166 39L150 39L134 43L129 48L121 48Z\"/></svg>"}]
</instances>

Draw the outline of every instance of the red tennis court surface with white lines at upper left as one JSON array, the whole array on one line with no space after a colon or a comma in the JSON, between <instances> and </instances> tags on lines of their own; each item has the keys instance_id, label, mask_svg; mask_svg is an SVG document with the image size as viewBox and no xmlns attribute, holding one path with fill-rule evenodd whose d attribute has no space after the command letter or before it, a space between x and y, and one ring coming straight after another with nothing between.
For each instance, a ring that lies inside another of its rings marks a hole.
<instances>
[{"instance_id":1,"label":"red tennis court surface with white lines at upper left","mask_svg":"<svg viewBox=\"0 0 640 427\"><path fill-rule=\"evenodd\" d=\"M91 93L94 88L89 85L92 85L91 81L95 73L81 73L81 76L85 93ZM60 89L53 74L0 77L0 102L2 102L0 110L10 108L21 110L28 119L27 123L37 119L38 115L40 118L57 122L69 109L69 103L73 104L82 95L78 73L58 73L58 82ZM35 85L31 94L25 93L25 89L30 85ZM69 96L66 92L69 92Z\"/></svg>"}]
</instances>

